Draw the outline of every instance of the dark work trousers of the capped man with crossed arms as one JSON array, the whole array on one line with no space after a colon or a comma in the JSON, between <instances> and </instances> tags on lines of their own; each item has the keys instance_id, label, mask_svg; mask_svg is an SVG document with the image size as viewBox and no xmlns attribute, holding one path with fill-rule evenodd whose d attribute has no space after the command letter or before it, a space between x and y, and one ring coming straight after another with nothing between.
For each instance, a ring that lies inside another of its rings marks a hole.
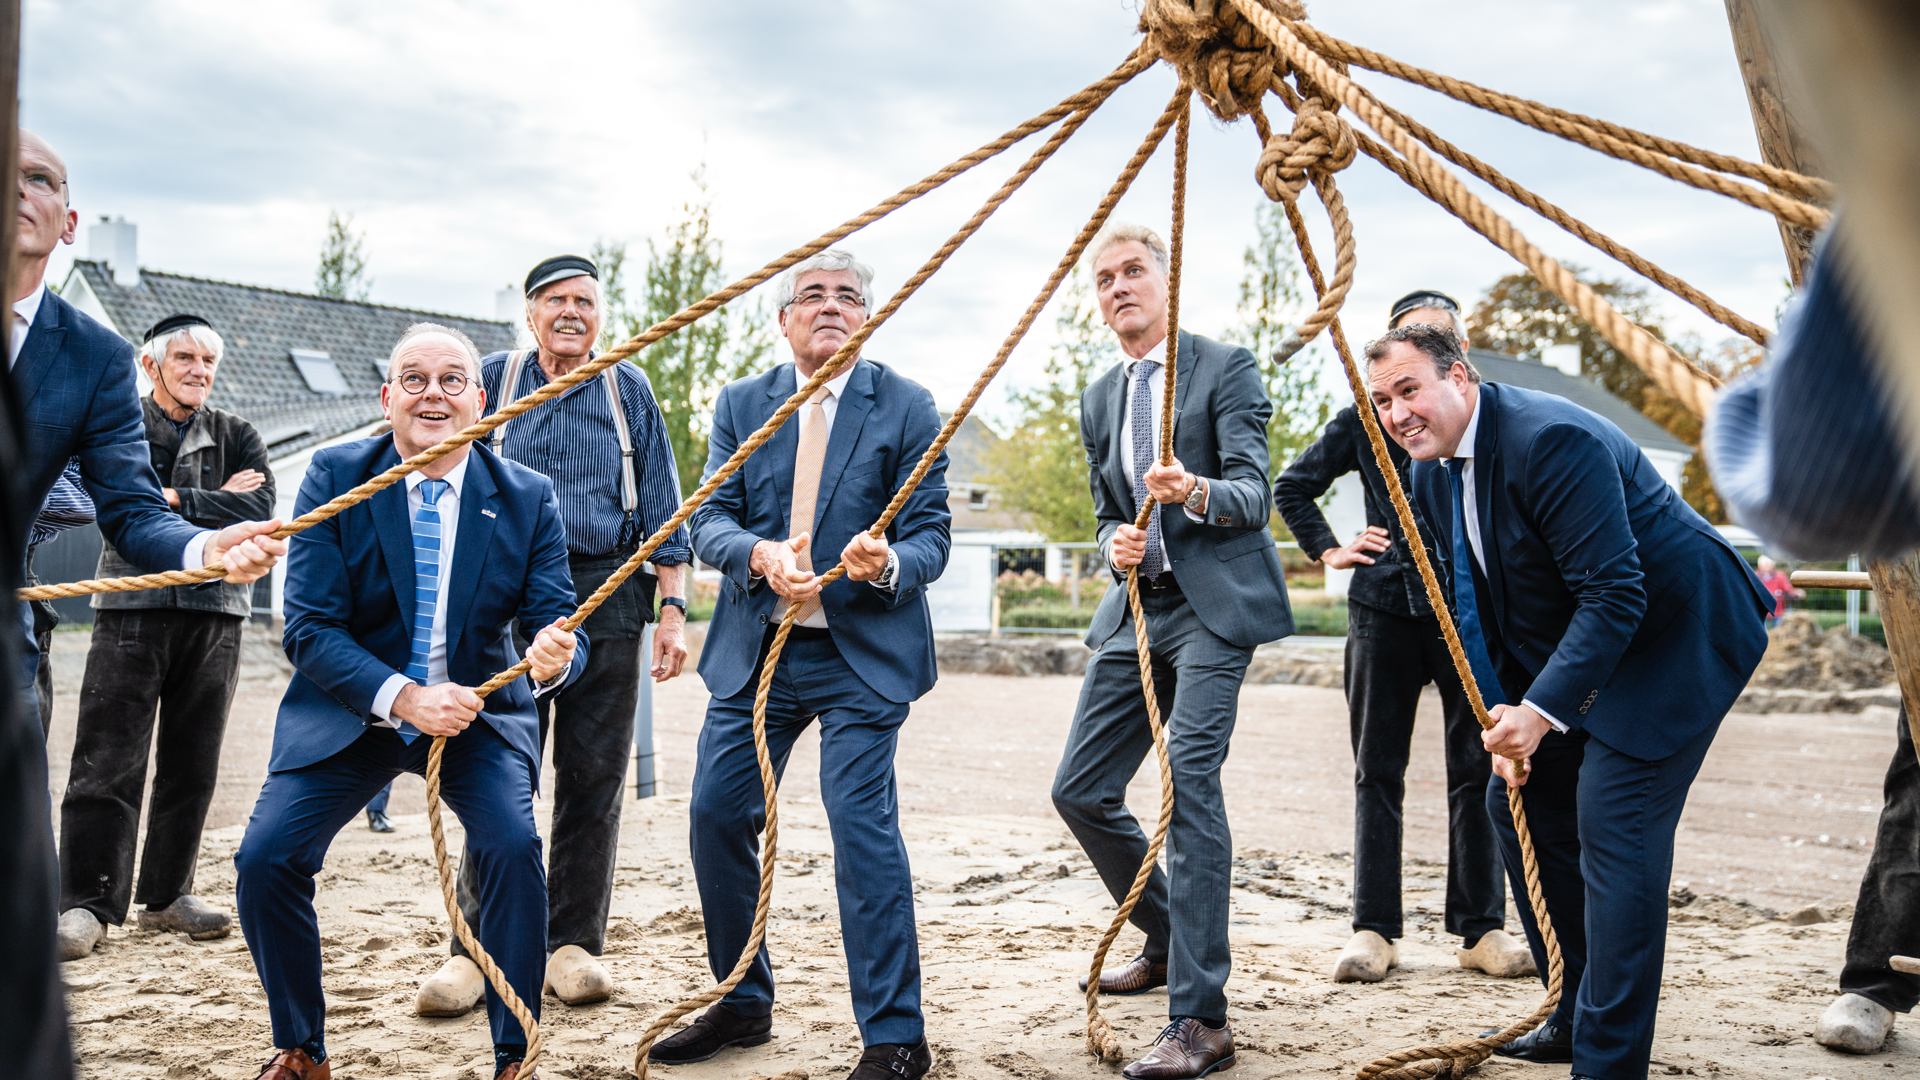
<instances>
[{"instance_id":1,"label":"dark work trousers of the capped man with crossed arms","mask_svg":"<svg viewBox=\"0 0 1920 1080\"><path fill-rule=\"evenodd\" d=\"M94 611L67 796L60 803L61 911L84 907L119 926L129 897L161 909L194 892L200 830L240 678L240 628L238 615L215 611ZM156 748L154 803L134 894L148 746Z\"/></svg>"}]
</instances>

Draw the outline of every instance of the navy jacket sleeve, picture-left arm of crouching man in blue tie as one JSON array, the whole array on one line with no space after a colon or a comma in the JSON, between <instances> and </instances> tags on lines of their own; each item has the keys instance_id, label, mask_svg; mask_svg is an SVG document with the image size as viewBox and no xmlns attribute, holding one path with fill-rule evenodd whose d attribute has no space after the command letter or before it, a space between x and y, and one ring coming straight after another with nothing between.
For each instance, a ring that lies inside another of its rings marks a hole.
<instances>
[{"instance_id":1,"label":"navy jacket sleeve, picture-left arm of crouching man in blue tie","mask_svg":"<svg viewBox=\"0 0 1920 1080\"><path fill-rule=\"evenodd\" d=\"M307 467L294 498L296 517L334 496L330 479L324 463ZM353 640L353 590L342 588L346 580L340 517L296 534L286 550L286 632L280 644L301 675L365 717L386 680L401 673Z\"/></svg>"}]
</instances>

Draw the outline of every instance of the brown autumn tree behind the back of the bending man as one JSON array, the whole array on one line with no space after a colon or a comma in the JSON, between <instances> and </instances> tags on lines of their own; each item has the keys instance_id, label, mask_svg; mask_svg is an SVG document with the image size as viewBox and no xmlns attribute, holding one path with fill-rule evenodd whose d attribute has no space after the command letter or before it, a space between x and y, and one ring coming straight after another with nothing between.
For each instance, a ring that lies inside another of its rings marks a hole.
<instances>
[{"instance_id":1,"label":"brown autumn tree behind the back of the bending man","mask_svg":"<svg viewBox=\"0 0 1920 1080\"><path fill-rule=\"evenodd\" d=\"M1590 275L1582 267L1569 265L1580 281L1594 288L1622 315L1638 323L1659 340L1667 340L1667 327L1644 284L1605 281ZM1496 352L1540 359L1546 346L1580 346L1580 373L1599 382L1615 398L1640 409L1668 434L1693 448L1682 475L1680 496L1715 525L1726 525L1726 507L1707 475L1707 459L1699 454L1699 417L1690 413L1676 398L1653 384L1651 379L1620 350L1613 348L1599 331L1580 319L1553 290L1544 286L1532 273L1509 273L1496 281L1467 317L1467 332L1473 344ZM1763 352L1745 338L1728 338L1715 348L1707 348L1699 338L1682 336L1668 342L1676 352L1703 369L1726 379L1759 363Z\"/></svg>"}]
</instances>

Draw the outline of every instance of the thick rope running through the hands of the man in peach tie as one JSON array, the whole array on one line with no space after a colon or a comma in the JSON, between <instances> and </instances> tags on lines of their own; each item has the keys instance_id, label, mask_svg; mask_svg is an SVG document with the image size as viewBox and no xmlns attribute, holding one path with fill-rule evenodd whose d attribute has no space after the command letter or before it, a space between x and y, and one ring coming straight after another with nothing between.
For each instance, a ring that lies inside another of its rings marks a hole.
<instances>
[{"instance_id":1,"label":"thick rope running through the hands of the man in peach tie","mask_svg":"<svg viewBox=\"0 0 1920 1080\"><path fill-rule=\"evenodd\" d=\"M1052 294L1060 288L1060 282L1073 269L1073 263L1079 261L1081 252L1092 240L1094 233L1098 233L1100 225L1104 225L1108 215L1112 215L1114 206L1117 206L1119 198L1127 192L1129 186L1133 186L1133 179L1146 165L1146 160L1152 156L1160 140L1165 138L1165 133L1173 125L1173 119L1175 119L1175 106L1169 104L1165 113L1162 113L1160 123L1154 125L1154 131L1135 152L1133 160L1127 161L1127 167L1121 171L1119 179L1114 181L1112 190L1106 194L1106 198L1100 200L1100 206L1094 209L1094 215L1081 229L1079 236L1075 236L1073 244L1069 246L1068 254L1060 259L1060 265L1054 269L1052 277L1046 281L1041 294L1033 300L1025 315L1021 315L1020 323L1008 334L1006 342L1000 346L1000 352L995 356L993 363L989 363L987 369L979 375L979 379L973 382L973 388L960 402L960 407L954 409L954 413L947 419L947 425L941 427L941 432L927 446L927 452L922 454L920 463L908 475L906 482L900 486L899 492L895 492L893 500L887 503L887 509L879 515L879 519L872 525L872 528L868 528L870 536L879 538L893 523L893 517L900 511L900 507L906 505L906 500L912 498L914 490L925 479L927 471L947 450L947 442L952 440L954 432L960 430L960 425L973 409L973 404L979 402L981 392L985 392L993 377L998 375L1000 367L1012 356L1014 348L1027 334L1027 329L1033 327L1033 321L1039 317L1041 309L1046 306ZM931 269L927 273L931 273ZM862 331L864 329L866 325L862 325ZM847 354L852 348L856 348L856 340L849 340L847 346L841 348L841 354ZM835 359L841 359L841 356L835 354ZM822 371L816 373L812 382L826 382L826 379L822 379L826 367L822 367ZM810 394L812 394L810 388L804 392L797 392L795 400L804 400ZM845 573L847 573L845 563L835 565L831 571L820 577L820 586L826 588L833 584L835 580L845 577ZM778 782L774 778L772 759L766 749L766 700L774 673L780 665L780 653L785 648L787 634L791 632L797 615L799 607L789 605L787 613L781 617L780 628L774 632L774 642L768 648L766 659L760 661L760 684L758 692L755 694L755 715L753 715L755 751L758 755L758 765L760 765L760 784L762 784L762 796L766 799L768 824L760 855L760 894L755 905L753 930L747 936L747 945L741 949L739 961L735 961L733 970L728 972L728 978L720 980L720 984L708 988L707 992L697 994L682 1001L680 1005L668 1009L647 1026L647 1030L639 1038L639 1043L634 1049L634 1072L639 1076L639 1080L647 1080L647 1070L649 1070L647 1051L653 1047L655 1040L659 1040L660 1034L666 1032L666 1028L670 1028L676 1020L680 1020L693 1009L710 1005L720 997L726 997L728 992L739 986L739 980L747 974L747 969L753 967L753 961L760 951L760 942L764 942L766 938L766 920L774 896L774 851L778 844L778 821L780 821Z\"/></svg>"}]
</instances>

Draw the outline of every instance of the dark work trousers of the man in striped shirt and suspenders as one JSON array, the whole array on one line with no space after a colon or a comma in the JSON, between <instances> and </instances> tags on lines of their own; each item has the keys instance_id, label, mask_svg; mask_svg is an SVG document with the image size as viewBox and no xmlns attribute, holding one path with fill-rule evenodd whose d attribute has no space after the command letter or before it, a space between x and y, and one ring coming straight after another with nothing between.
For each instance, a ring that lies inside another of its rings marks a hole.
<instances>
[{"instance_id":1,"label":"dark work trousers of the man in striped shirt and suspenders","mask_svg":"<svg viewBox=\"0 0 1920 1080\"><path fill-rule=\"evenodd\" d=\"M574 592L584 601L620 565L626 553L572 555ZM612 871L620 853L620 799L626 763L634 755L634 709L639 680L647 678L639 655L643 609L651 605L653 578L634 573L580 625L593 650L588 669L564 694L538 700L540 746L553 728L553 824L547 828L547 953L580 945L595 957L607 949L607 907L612 903ZM520 642L526 648L526 642ZM472 874L461 857L461 913L474 922ZM453 955L467 949L453 940Z\"/></svg>"}]
</instances>

